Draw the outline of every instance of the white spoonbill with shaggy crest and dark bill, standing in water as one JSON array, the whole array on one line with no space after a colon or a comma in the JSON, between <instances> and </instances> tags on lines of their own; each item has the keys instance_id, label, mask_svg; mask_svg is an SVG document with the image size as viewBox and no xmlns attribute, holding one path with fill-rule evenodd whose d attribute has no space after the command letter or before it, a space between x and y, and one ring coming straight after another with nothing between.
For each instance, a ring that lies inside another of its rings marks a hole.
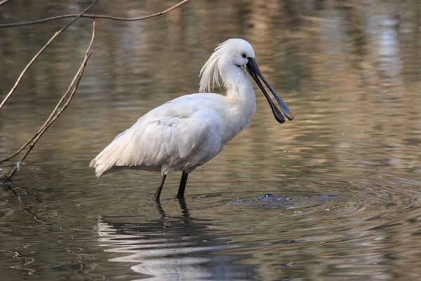
<instances>
[{"instance_id":1,"label":"white spoonbill with shaggy crest and dark bill, standing in water","mask_svg":"<svg viewBox=\"0 0 421 281\"><path fill-rule=\"evenodd\" d=\"M267 98L276 120L285 122L283 115L292 120L293 112L260 73L253 47L243 39L229 39L215 48L203 65L201 93L180 96L147 112L130 129L119 133L89 166L95 167L98 177L118 168L161 172L154 201L159 201L167 174L182 171L177 197L184 197L189 173L218 155L248 126L255 113L255 92L246 70ZM210 84L220 85L219 76L227 89L225 96L203 93L210 91ZM259 78L276 98L283 115Z\"/></svg>"}]
</instances>

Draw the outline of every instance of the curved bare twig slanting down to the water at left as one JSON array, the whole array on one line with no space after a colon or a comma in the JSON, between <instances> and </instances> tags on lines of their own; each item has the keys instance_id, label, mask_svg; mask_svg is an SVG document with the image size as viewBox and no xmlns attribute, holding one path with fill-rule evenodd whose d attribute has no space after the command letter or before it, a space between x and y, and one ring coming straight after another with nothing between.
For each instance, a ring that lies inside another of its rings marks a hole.
<instances>
[{"instance_id":1,"label":"curved bare twig slanting down to the water at left","mask_svg":"<svg viewBox=\"0 0 421 281\"><path fill-rule=\"evenodd\" d=\"M81 64L81 67L79 67L78 72L76 72L76 75L74 76L74 79L72 80L72 83L70 84L69 89L67 89L67 91L65 92L65 94L63 96L64 97L67 96L70 91L72 91L72 93L70 93L69 98L67 98L67 101L66 101L65 105L63 105L63 107L57 112L57 114L53 117L53 119L51 119L51 122L49 122L45 126L45 128L41 131L41 133L39 133L39 135L36 136L36 138L34 138L34 141L32 141L31 145L29 145L29 148L27 149L25 154L20 158L20 161L18 163L22 163L23 160L25 160L27 155L29 155L29 152L31 152L32 148L34 148L34 146L35 146L36 142L39 140L39 138L41 138L41 136L47 131L47 129L55 122L55 120L67 108L67 105L69 105L70 101L72 100L72 98L74 96L74 93L76 93L77 87L79 86L79 82L81 81L83 71L85 70L85 67L86 67L86 63L88 63L88 59L92 54L92 44L93 44L94 38L95 38L95 21L93 22L92 38L91 38L91 42L89 43L88 49L86 50L85 59L83 60L83 63ZM16 171L18 171L18 165L15 165L15 167L12 169L10 174L8 174L8 176L6 176L6 180L10 181L12 176L15 174Z\"/></svg>"}]
</instances>

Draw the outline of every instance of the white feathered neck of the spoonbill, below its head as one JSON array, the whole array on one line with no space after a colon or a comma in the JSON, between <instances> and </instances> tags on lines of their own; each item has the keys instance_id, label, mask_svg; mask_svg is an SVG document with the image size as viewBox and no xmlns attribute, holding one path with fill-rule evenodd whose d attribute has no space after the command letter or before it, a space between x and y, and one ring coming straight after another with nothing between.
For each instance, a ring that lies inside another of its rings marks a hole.
<instances>
[{"instance_id":1,"label":"white feathered neck of the spoonbill, below its head","mask_svg":"<svg viewBox=\"0 0 421 281\"><path fill-rule=\"evenodd\" d=\"M241 67L230 66L230 69L220 69L224 86L227 89L225 99L230 104L225 110L225 118L230 122L227 126L232 129L231 139L250 124L251 117L255 114L255 92L246 71Z\"/></svg>"}]
</instances>

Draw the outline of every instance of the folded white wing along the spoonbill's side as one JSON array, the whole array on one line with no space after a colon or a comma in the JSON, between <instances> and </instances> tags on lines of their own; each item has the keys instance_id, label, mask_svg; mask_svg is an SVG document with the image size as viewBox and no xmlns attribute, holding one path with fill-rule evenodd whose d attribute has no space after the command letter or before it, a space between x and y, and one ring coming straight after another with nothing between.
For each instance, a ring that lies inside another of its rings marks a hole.
<instances>
[{"instance_id":1,"label":"folded white wing along the spoonbill's side","mask_svg":"<svg viewBox=\"0 0 421 281\"><path fill-rule=\"evenodd\" d=\"M173 166L206 139L208 124L192 117L145 118L119 134L93 159L97 176L112 166Z\"/></svg>"}]
</instances>

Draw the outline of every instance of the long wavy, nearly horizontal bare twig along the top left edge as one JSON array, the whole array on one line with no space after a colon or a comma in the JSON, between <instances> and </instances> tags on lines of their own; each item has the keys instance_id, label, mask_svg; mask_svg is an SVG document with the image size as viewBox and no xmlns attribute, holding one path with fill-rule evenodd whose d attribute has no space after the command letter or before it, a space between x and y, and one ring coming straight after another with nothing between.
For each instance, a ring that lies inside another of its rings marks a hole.
<instances>
[{"instance_id":1,"label":"long wavy, nearly horizontal bare twig along the top left edge","mask_svg":"<svg viewBox=\"0 0 421 281\"><path fill-rule=\"evenodd\" d=\"M174 6L161 11L159 13L153 13L152 15L145 15L144 17L138 17L138 18L120 18L120 17L114 17L112 15L91 15L91 14L83 14L81 15L81 18L93 18L93 19L97 19L97 18L105 18L108 20L123 20L123 21L135 21L135 20L146 20L147 18L154 18L158 15L163 15L165 13L168 13L169 11L177 8L178 6L181 6L182 4L185 4L187 1L189 0L183 0L178 4L175 4ZM59 20L61 18L74 18L76 17L77 14L68 14L68 15L56 15L55 17L51 17L51 18L43 18L41 20L32 20L29 22L15 22L15 23L5 23L3 25L0 25L1 27L19 27L22 25L36 25L38 23L42 23L42 22L48 22L50 20Z\"/></svg>"}]
</instances>

